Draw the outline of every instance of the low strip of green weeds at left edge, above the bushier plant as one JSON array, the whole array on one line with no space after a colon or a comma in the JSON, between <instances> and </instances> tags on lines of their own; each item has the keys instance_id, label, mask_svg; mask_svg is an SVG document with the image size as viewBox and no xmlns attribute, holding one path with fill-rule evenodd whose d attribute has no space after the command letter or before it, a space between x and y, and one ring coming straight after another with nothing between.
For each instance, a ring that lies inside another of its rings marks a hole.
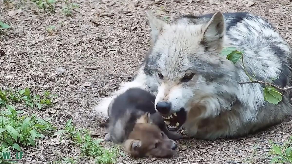
<instances>
[{"instance_id":1,"label":"low strip of green weeds at left edge, above the bushier plant","mask_svg":"<svg viewBox=\"0 0 292 164\"><path fill-rule=\"evenodd\" d=\"M33 94L29 88L25 90L18 89L9 91L0 90L0 107L6 104L25 103L27 107L37 107L42 109L50 107L53 103L53 98L57 97L55 94L51 94L48 91L44 91L42 94Z\"/></svg>"}]
</instances>

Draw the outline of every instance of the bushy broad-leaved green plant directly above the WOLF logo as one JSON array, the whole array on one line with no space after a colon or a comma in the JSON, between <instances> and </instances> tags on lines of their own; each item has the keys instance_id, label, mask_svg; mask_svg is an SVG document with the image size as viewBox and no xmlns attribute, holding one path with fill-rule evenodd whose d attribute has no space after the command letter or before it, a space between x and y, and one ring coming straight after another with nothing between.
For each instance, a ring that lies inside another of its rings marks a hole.
<instances>
[{"instance_id":1,"label":"bushy broad-leaved green plant directly above the WOLF logo","mask_svg":"<svg viewBox=\"0 0 292 164\"><path fill-rule=\"evenodd\" d=\"M48 135L56 127L48 121L32 116L19 116L24 111L15 110L12 105L6 105L6 110L1 111L0 116L0 141L2 147L11 147L21 151L20 145L35 146L34 140Z\"/></svg>"}]
</instances>

